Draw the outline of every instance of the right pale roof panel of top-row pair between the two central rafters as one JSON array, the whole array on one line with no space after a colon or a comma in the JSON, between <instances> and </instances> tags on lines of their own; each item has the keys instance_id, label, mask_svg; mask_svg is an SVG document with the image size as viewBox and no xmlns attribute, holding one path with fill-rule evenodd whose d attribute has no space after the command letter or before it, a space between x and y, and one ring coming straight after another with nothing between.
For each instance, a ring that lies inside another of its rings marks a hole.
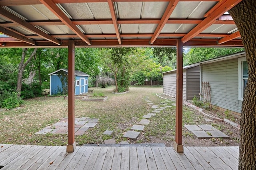
<instances>
[{"instance_id":1,"label":"right pale roof panel of top-row pair between the two central rafters","mask_svg":"<svg viewBox=\"0 0 256 170\"><path fill-rule=\"evenodd\" d=\"M141 18L162 18L169 2L144 2Z\"/></svg>"}]
</instances>

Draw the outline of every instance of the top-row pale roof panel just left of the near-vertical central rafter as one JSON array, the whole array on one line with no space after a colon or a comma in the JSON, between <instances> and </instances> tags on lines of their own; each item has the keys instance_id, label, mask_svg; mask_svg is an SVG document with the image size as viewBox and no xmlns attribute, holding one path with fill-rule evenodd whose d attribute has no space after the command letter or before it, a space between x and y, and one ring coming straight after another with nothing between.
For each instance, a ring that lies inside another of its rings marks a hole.
<instances>
[{"instance_id":1,"label":"top-row pale roof panel just left of the near-vertical central rafter","mask_svg":"<svg viewBox=\"0 0 256 170\"><path fill-rule=\"evenodd\" d=\"M107 2L88 3L95 19L111 19L111 13Z\"/></svg>"}]
</instances>

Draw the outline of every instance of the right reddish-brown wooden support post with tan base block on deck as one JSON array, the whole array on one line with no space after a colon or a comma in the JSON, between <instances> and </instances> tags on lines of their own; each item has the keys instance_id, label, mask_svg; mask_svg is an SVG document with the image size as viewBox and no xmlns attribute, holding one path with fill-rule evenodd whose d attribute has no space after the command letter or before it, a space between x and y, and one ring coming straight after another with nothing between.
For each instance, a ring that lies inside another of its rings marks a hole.
<instances>
[{"instance_id":1,"label":"right reddish-brown wooden support post with tan base block on deck","mask_svg":"<svg viewBox=\"0 0 256 170\"><path fill-rule=\"evenodd\" d=\"M182 96L183 96L183 44L177 40L177 69L176 69L176 127L174 150L183 152L182 144Z\"/></svg>"}]
</instances>

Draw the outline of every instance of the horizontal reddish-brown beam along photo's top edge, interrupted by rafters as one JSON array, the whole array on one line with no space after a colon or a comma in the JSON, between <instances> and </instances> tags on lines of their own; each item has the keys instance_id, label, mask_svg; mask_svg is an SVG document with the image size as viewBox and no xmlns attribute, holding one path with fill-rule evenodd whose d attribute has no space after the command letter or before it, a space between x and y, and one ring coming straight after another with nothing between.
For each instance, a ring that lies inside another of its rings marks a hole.
<instances>
[{"instance_id":1,"label":"horizontal reddish-brown beam along photo's top edge, interrupted by rafters","mask_svg":"<svg viewBox=\"0 0 256 170\"><path fill-rule=\"evenodd\" d=\"M140 2L168 2L170 0L140 0ZM191 1L191 0L180 0ZM202 1L202 0L193 0ZM220 1L220 0L204 0L204 1ZM85 3L85 2L107 2L107 0L53 0L55 4L64 3ZM137 0L114 0L114 2L138 2ZM0 6L18 6L18 5L37 5L42 4L40 0L0 0Z\"/></svg>"}]
</instances>

